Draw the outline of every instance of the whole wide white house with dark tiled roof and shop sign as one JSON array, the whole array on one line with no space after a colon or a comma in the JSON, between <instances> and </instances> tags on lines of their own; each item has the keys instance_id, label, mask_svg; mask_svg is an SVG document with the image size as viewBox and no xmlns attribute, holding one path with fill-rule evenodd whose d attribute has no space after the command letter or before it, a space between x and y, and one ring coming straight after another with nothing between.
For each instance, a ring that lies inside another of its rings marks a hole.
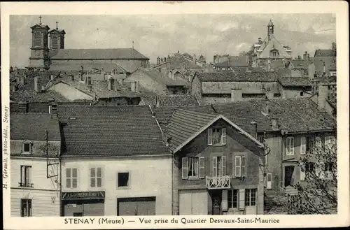
<instances>
[{"instance_id":1,"label":"whole wide white house with dark tiled roof and shop sign","mask_svg":"<svg viewBox=\"0 0 350 230\"><path fill-rule=\"evenodd\" d=\"M171 215L172 154L149 106L60 106L58 115L63 216Z\"/></svg>"}]
</instances>

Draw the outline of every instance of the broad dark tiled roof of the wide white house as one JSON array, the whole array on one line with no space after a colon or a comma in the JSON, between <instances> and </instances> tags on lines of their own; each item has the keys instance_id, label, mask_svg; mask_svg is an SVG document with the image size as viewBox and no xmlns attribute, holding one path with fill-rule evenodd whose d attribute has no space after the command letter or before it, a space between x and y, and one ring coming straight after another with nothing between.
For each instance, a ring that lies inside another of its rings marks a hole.
<instances>
[{"instance_id":1,"label":"broad dark tiled roof of the wide white house","mask_svg":"<svg viewBox=\"0 0 350 230\"><path fill-rule=\"evenodd\" d=\"M58 117L64 155L169 154L149 106L59 106Z\"/></svg>"}]
</instances>

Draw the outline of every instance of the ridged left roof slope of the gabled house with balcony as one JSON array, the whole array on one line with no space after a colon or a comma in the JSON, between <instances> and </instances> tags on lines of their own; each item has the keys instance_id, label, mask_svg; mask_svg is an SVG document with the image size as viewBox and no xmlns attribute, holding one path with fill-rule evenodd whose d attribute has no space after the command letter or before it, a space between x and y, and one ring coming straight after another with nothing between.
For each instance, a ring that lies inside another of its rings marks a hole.
<instances>
[{"instance_id":1,"label":"ridged left roof slope of the gabled house with balcony","mask_svg":"<svg viewBox=\"0 0 350 230\"><path fill-rule=\"evenodd\" d=\"M167 126L167 136L172 137L169 149L175 150L217 116L182 109L175 110Z\"/></svg>"}]
</instances>

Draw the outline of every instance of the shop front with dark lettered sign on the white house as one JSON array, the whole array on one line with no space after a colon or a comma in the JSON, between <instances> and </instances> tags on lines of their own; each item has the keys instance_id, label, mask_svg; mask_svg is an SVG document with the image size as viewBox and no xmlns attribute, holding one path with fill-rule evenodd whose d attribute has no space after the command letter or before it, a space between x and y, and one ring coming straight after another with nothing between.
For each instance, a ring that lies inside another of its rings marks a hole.
<instances>
[{"instance_id":1,"label":"shop front with dark lettered sign on the white house","mask_svg":"<svg viewBox=\"0 0 350 230\"><path fill-rule=\"evenodd\" d=\"M104 191L62 192L63 216L103 216L104 198Z\"/></svg>"}]
</instances>

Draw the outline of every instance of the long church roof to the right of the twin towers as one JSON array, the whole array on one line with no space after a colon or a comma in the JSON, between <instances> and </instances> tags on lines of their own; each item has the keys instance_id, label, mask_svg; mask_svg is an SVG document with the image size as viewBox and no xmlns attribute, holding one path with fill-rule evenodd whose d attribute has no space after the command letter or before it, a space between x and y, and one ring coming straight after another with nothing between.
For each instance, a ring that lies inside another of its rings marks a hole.
<instances>
[{"instance_id":1,"label":"long church roof to the right of the twin towers","mask_svg":"<svg viewBox=\"0 0 350 230\"><path fill-rule=\"evenodd\" d=\"M51 57L55 59L146 59L148 57L142 55L132 48L122 49L61 49L57 55Z\"/></svg>"}]
</instances>

